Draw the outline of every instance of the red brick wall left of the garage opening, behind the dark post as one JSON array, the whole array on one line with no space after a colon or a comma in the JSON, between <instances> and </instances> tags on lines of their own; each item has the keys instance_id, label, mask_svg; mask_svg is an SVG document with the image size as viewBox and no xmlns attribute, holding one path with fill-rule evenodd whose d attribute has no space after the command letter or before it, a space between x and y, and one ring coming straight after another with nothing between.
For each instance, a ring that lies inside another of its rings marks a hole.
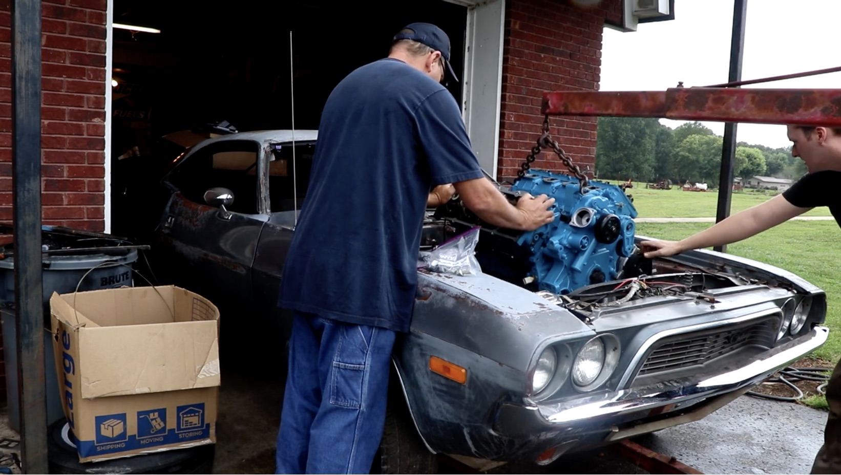
<instances>
[{"instance_id":1,"label":"red brick wall left of the garage opening, behind the dark post","mask_svg":"<svg viewBox=\"0 0 841 475\"><path fill-rule=\"evenodd\" d=\"M104 230L106 0L42 4L45 224ZM0 1L0 221L12 219L11 16Z\"/></svg>"}]
</instances>

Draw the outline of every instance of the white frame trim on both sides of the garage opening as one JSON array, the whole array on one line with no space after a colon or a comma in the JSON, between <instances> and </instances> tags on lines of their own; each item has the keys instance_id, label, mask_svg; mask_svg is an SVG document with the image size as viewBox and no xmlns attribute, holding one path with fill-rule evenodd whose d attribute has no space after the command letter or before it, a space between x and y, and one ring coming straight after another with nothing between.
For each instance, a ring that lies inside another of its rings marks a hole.
<instances>
[{"instance_id":1,"label":"white frame trim on both sides of the garage opening","mask_svg":"<svg viewBox=\"0 0 841 475\"><path fill-rule=\"evenodd\" d=\"M468 8L464 34L462 113L479 164L492 177L500 155L500 98L505 0L443 0ZM111 77L114 74L114 0L108 0L105 55L105 232L111 232Z\"/></svg>"}]
</instances>

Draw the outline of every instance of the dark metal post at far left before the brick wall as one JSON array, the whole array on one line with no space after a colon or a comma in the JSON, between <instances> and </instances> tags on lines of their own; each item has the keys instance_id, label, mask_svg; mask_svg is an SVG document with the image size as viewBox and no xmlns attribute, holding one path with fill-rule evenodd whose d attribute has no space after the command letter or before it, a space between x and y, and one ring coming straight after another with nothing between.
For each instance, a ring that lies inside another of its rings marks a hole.
<instances>
[{"instance_id":1,"label":"dark metal post at far left before the brick wall","mask_svg":"<svg viewBox=\"0 0 841 475\"><path fill-rule=\"evenodd\" d=\"M12 207L21 463L48 473L41 274L41 2L12 2Z\"/></svg>"}]
</instances>

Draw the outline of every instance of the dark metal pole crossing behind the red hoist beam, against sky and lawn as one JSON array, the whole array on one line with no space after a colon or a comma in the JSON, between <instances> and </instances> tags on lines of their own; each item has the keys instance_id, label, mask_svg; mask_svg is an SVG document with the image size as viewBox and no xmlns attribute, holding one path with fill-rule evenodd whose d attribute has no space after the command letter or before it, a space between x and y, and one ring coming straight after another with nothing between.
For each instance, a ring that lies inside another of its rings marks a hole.
<instances>
[{"instance_id":1,"label":"dark metal pole crossing behind the red hoist beam, against sky and lawn","mask_svg":"<svg viewBox=\"0 0 841 475\"><path fill-rule=\"evenodd\" d=\"M744 24L748 13L748 0L733 0L733 36L730 40L730 73L728 82L742 80L742 56L744 51ZM736 123L724 124L722 145L722 168L718 177L718 209L716 222L730 215L733 198L733 158L736 156ZM726 252L727 245L717 245L715 251Z\"/></svg>"}]
</instances>

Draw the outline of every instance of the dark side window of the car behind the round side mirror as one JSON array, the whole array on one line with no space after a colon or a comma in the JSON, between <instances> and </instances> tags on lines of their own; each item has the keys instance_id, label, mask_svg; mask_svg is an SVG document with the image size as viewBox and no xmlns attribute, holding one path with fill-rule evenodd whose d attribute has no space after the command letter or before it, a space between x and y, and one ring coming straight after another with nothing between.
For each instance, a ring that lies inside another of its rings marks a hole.
<instances>
[{"instance_id":1,"label":"dark side window of the car behind the round side mirror","mask_svg":"<svg viewBox=\"0 0 841 475\"><path fill-rule=\"evenodd\" d=\"M234 194L229 211L257 214L257 142L230 141L198 150L167 177L185 198L204 203L204 192L228 188Z\"/></svg>"}]
</instances>

